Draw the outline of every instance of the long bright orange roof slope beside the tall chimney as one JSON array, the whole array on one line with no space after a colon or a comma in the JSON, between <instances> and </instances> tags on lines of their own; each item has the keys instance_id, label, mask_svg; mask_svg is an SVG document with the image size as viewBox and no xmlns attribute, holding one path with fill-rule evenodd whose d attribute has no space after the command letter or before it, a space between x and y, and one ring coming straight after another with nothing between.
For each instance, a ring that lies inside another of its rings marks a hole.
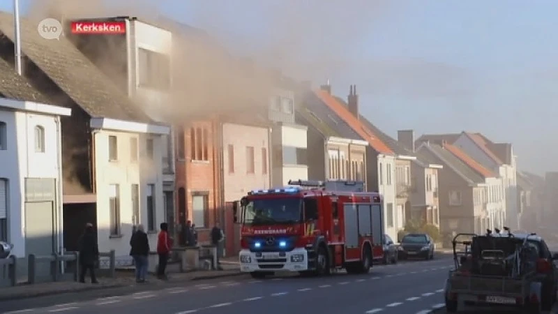
<instances>
[{"instance_id":1,"label":"long bright orange roof slope beside the tall chimney","mask_svg":"<svg viewBox=\"0 0 558 314\"><path fill-rule=\"evenodd\" d=\"M358 133L361 138L367 141L370 146L375 149L380 154L393 154L393 151L384 143L382 140L372 132L372 130L366 128L359 119L353 116L351 112L338 102L338 100L331 96L328 91L319 90L315 91L316 96L322 100L322 102L328 106L335 115L345 121L345 123L354 130L355 133Z\"/></svg>"}]
</instances>

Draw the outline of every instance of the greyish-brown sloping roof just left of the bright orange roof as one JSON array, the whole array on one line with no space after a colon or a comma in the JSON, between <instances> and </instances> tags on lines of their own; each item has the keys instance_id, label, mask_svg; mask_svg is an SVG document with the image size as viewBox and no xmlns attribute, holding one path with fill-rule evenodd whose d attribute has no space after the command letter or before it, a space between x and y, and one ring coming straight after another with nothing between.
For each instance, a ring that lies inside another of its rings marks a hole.
<instances>
[{"instance_id":1,"label":"greyish-brown sloping roof just left of the bright orange roof","mask_svg":"<svg viewBox=\"0 0 558 314\"><path fill-rule=\"evenodd\" d=\"M302 100L296 103L296 114L325 136L363 140L311 91L304 92Z\"/></svg>"}]
</instances>

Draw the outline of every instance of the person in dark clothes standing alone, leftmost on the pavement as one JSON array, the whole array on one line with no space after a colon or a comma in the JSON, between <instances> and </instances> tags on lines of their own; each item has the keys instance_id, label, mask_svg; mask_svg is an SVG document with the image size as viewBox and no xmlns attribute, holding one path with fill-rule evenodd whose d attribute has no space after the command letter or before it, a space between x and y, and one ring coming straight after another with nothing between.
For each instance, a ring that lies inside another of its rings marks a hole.
<instances>
[{"instance_id":1,"label":"person in dark clothes standing alone, leftmost on the pavement","mask_svg":"<svg viewBox=\"0 0 558 314\"><path fill-rule=\"evenodd\" d=\"M99 259L99 248L97 246L97 237L93 230L93 224L87 223L85 230L78 241L80 250L80 283L85 283L85 274L89 269L91 275L91 283L98 283L95 276L95 264Z\"/></svg>"}]
</instances>

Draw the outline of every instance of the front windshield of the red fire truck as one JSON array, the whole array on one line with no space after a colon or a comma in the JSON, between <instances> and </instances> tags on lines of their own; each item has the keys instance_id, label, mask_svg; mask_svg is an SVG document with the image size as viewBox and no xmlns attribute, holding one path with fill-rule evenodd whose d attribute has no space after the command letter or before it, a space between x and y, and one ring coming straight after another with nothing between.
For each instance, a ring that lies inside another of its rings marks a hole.
<instances>
[{"instance_id":1,"label":"front windshield of the red fire truck","mask_svg":"<svg viewBox=\"0 0 558 314\"><path fill-rule=\"evenodd\" d=\"M244 210L246 225L294 224L302 220L302 199L278 197L249 200Z\"/></svg>"}]
</instances>

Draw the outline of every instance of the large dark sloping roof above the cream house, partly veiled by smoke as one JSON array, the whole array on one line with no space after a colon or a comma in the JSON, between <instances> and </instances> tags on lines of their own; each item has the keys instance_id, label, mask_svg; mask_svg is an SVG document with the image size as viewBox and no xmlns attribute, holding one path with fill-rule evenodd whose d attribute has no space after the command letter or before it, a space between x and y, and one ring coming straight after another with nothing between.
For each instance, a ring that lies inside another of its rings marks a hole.
<instances>
[{"instance_id":1,"label":"large dark sloping roof above the cream house, partly veiled by smoke","mask_svg":"<svg viewBox=\"0 0 558 314\"><path fill-rule=\"evenodd\" d=\"M46 40L21 18L22 52L91 117L153 123L64 36ZM0 12L0 32L14 40L13 15ZM65 104L56 104L65 105Z\"/></svg>"}]
</instances>

